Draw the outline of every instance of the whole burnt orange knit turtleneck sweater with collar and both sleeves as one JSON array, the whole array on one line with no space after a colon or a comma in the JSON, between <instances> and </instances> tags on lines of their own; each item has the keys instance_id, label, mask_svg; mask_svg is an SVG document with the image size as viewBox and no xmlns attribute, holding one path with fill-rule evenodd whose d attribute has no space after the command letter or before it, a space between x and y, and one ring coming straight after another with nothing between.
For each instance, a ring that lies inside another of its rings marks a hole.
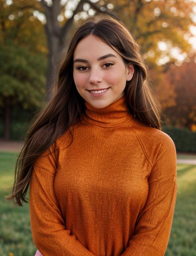
<instances>
[{"instance_id":1,"label":"whole burnt orange knit turtleneck sweater with collar and both sleeves","mask_svg":"<svg viewBox=\"0 0 196 256\"><path fill-rule=\"evenodd\" d=\"M30 220L43 256L163 256L176 201L176 148L125 96L84 119L35 163ZM54 149L56 151L54 152Z\"/></svg>"}]
</instances>

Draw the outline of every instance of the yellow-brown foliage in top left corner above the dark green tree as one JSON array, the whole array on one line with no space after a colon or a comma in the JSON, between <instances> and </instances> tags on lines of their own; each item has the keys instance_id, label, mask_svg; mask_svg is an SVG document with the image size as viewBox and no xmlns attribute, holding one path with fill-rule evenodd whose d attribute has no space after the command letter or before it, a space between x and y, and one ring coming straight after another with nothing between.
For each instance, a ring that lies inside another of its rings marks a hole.
<instances>
[{"instance_id":1,"label":"yellow-brown foliage in top left corner above the dark green tree","mask_svg":"<svg viewBox=\"0 0 196 256\"><path fill-rule=\"evenodd\" d=\"M20 3L27 5L26 0L21 0ZM47 54L44 27L32 16L32 11L19 9L6 0L0 0L0 10L3 10L0 12L0 45L12 42L28 48L31 52Z\"/></svg>"}]
</instances>

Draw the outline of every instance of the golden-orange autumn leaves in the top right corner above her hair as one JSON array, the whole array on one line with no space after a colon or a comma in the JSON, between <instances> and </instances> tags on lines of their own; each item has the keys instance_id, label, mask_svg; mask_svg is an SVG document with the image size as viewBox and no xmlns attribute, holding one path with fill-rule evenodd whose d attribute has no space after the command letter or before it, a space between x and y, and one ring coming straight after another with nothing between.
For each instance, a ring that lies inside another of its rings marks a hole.
<instances>
[{"instance_id":1,"label":"golden-orange autumn leaves in the top right corner above her hair","mask_svg":"<svg viewBox=\"0 0 196 256\"><path fill-rule=\"evenodd\" d=\"M183 52L192 46L185 39L191 35L189 25L194 25L191 18L195 3L191 0L105 0L113 3L118 16L122 18L142 46L147 59L157 60L162 54L168 53L172 46L178 46ZM159 41L165 42L167 49L158 47ZM156 63L156 61L153 61Z\"/></svg>"}]
</instances>

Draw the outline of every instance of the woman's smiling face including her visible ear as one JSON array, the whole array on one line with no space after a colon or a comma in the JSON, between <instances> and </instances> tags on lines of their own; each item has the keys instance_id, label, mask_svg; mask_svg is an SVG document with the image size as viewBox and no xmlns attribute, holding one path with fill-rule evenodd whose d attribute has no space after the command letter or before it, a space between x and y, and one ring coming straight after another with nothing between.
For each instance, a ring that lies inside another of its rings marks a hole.
<instances>
[{"instance_id":1,"label":"woman's smiling face including her visible ear","mask_svg":"<svg viewBox=\"0 0 196 256\"><path fill-rule=\"evenodd\" d=\"M94 35L82 39L74 51L74 83L84 100L102 109L124 95L126 81L133 77L133 65Z\"/></svg>"}]
</instances>

